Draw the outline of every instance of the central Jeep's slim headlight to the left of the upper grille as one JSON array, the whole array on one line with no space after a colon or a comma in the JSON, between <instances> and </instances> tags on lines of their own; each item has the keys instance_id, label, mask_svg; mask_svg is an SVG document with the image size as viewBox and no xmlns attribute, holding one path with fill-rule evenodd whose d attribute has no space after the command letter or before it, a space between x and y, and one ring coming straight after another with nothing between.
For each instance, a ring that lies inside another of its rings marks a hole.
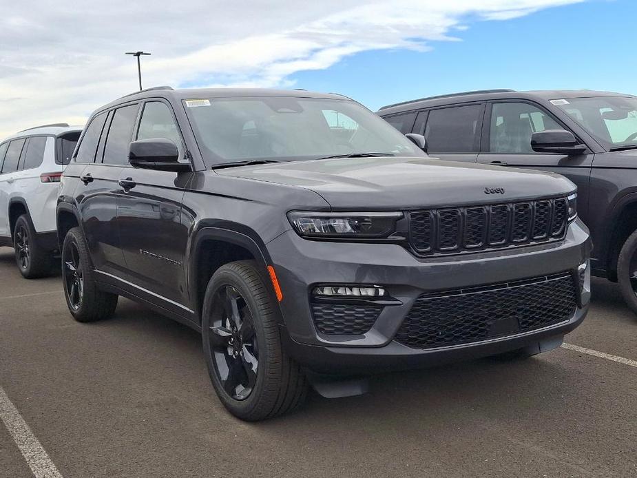
<instances>
[{"instance_id":1,"label":"central Jeep's slim headlight to the left of the upper grille","mask_svg":"<svg viewBox=\"0 0 637 478\"><path fill-rule=\"evenodd\" d=\"M386 238L401 212L321 213L292 211L288 218L300 236L317 238Z\"/></svg>"}]
</instances>

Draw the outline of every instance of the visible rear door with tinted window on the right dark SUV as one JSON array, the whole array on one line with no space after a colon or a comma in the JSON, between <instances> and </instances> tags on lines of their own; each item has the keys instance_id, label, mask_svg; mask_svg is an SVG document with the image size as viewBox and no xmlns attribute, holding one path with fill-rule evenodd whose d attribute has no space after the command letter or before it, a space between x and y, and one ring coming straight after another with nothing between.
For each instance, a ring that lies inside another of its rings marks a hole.
<instances>
[{"instance_id":1,"label":"visible rear door with tinted window on the right dark SUV","mask_svg":"<svg viewBox=\"0 0 637 478\"><path fill-rule=\"evenodd\" d=\"M419 112L413 132L427 141L434 158L475 163L481 143L484 103L453 105Z\"/></svg>"}]
</instances>

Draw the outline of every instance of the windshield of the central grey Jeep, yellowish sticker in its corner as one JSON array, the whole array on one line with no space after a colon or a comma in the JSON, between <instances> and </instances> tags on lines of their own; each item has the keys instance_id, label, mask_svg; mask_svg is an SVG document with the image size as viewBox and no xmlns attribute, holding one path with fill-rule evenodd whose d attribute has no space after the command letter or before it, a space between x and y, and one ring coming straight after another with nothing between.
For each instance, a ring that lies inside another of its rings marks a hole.
<instances>
[{"instance_id":1,"label":"windshield of the central grey Jeep, yellowish sticker in its corner","mask_svg":"<svg viewBox=\"0 0 637 478\"><path fill-rule=\"evenodd\" d=\"M370 152L425 156L394 127L354 101L283 96L198 98L185 100L184 105L211 165Z\"/></svg>"}]
</instances>

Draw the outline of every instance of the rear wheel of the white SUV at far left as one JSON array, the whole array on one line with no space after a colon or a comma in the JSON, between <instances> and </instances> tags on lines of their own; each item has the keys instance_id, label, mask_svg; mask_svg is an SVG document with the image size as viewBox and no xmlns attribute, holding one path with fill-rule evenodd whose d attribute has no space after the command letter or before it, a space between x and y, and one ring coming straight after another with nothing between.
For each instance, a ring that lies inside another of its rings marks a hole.
<instances>
[{"instance_id":1,"label":"rear wheel of the white SUV at far left","mask_svg":"<svg viewBox=\"0 0 637 478\"><path fill-rule=\"evenodd\" d=\"M13 229L15 260L22 277L36 279L50 275L52 254L39 246L29 216L20 216Z\"/></svg>"}]
</instances>

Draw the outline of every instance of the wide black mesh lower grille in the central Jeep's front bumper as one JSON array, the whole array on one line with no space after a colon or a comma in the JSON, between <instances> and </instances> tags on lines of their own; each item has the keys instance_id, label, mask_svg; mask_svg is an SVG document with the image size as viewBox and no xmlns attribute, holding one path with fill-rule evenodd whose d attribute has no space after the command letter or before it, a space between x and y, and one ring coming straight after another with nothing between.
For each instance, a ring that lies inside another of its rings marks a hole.
<instances>
[{"instance_id":1,"label":"wide black mesh lower grille in the central Jeep's front bumper","mask_svg":"<svg viewBox=\"0 0 637 478\"><path fill-rule=\"evenodd\" d=\"M576 306L571 273L425 294L394 338L415 349L470 344L564 322Z\"/></svg>"}]
</instances>

